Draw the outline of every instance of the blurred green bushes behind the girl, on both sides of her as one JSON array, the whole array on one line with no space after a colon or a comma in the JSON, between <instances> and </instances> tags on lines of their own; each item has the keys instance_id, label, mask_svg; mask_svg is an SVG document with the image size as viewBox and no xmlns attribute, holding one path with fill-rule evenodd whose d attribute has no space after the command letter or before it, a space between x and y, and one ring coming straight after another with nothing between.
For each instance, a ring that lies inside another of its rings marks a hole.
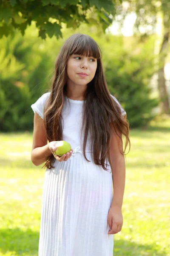
<instances>
[{"instance_id":1,"label":"blurred green bushes behind the girl, on both sides of her","mask_svg":"<svg viewBox=\"0 0 170 256\"><path fill-rule=\"evenodd\" d=\"M91 35L102 49L102 62L108 87L127 112L131 128L144 127L154 118L149 81L155 72L154 37L145 43L138 38L105 35L96 26L81 25L76 32ZM73 34L63 30L63 38L46 41L37 38L35 26L26 35L19 32L0 40L0 130L16 131L33 128L31 104L47 91L54 74L54 62L63 41ZM11 125L12 124L12 125Z\"/></svg>"}]
</instances>

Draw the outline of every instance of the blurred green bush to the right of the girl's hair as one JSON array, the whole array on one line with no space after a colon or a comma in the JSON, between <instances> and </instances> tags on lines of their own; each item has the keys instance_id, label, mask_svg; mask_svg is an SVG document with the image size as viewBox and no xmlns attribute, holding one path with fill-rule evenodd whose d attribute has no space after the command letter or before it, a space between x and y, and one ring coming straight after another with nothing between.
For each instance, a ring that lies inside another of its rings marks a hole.
<instances>
[{"instance_id":1,"label":"blurred green bush to the right of the girl's hair","mask_svg":"<svg viewBox=\"0 0 170 256\"><path fill-rule=\"evenodd\" d=\"M131 128L146 126L156 116L153 109L159 105L149 86L156 72L154 40L139 44L135 38L129 42L127 38L125 44L123 38L110 36L103 49L109 89L125 108Z\"/></svg>"}]
</instances>

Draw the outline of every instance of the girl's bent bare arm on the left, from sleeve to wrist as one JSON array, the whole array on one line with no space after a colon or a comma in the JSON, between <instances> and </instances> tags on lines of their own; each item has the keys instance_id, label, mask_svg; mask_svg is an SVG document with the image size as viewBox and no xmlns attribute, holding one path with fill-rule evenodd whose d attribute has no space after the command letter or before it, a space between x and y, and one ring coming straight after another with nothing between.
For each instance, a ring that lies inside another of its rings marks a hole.
<instances>
[{"instance_id":1,"label":"girl's bent bare arm on the left, from sleeve to wrist","mask_svg":"<svg viewBox=\"0 0 170 256\"><path fill-rule=\"evenodd\" d=\"M46 137L45 127L43 119L35 112L34 114L34 134L33 145L31 151L31 161L35 166L39 166L48 160L48 157L52 155L48 140Z\"/></svg>"}]
</instances>

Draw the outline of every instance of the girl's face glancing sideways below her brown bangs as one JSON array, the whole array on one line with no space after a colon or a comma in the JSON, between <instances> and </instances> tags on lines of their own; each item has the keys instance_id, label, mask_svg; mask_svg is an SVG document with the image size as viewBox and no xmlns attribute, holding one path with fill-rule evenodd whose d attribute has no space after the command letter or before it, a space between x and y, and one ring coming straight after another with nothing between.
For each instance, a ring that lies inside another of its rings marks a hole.
<instances>
[{"instance_id":1,"label":"girl's face glancing sideways below her brown bangs","mask_svg":"<svg viewBox=\"0 0 170 256\"><path fill-rule=\"evenodd\" d=\"M68 82L74 84L88 84L95 76L97 59L83 55L73 54L68 59L67 75ZM81 73L84 73L84 75Z\"/></svg>"}]
</instances>

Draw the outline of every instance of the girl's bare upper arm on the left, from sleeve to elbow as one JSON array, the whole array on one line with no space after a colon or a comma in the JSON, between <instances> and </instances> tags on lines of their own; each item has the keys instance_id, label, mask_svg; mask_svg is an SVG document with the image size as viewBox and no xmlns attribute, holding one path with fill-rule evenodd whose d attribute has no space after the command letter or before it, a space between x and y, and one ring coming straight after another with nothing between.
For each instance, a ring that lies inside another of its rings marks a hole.
<instances>
[{"instance_id":1,"label":"girl's bare upper arm on the left, from sleeve to elbow","mask_svg":"<svg viewBox=\"0 0 170 256\"><path fill-rule=\"evenodd\" d=\"M47 144L47 136L43 119L35 112L34 114L34 132L32 150Z\"/></svg>"}]
</instances>

